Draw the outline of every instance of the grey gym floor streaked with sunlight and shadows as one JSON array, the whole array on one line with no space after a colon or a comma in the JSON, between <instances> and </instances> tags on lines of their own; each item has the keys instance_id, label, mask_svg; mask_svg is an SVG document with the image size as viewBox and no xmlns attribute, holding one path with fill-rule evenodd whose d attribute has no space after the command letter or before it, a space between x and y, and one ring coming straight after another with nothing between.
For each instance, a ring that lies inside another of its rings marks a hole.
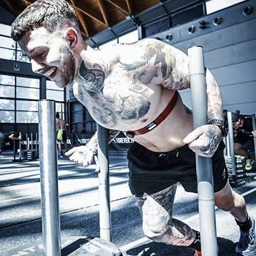
<instances>
[{"instance_id":1,"label":"grey gym floor streaked with sunlight and shadows","mask_svg":"<svg viewBox=\"0 0 256 256\"><path fill-rule=\"evenodd\" d=\"M11 152L0 155L0 251L1 255L24 244L41 242L39 161L12 162ZM70 236L100 236L98 175L95 165L77 167L68 158L58 160L60 228L62 239ZM255 170L253 170L255 171ZM185 247L151 242L144 237L135 198L129 192L125 156L110 155L112 242L123 255L194 255ZM256 181L234 188L256 218ZM199 229L198 199L179 186L174 217ZM239 231L229 213L216 209L219 255L236 255Z\"/></svg>"}]
</instances>

